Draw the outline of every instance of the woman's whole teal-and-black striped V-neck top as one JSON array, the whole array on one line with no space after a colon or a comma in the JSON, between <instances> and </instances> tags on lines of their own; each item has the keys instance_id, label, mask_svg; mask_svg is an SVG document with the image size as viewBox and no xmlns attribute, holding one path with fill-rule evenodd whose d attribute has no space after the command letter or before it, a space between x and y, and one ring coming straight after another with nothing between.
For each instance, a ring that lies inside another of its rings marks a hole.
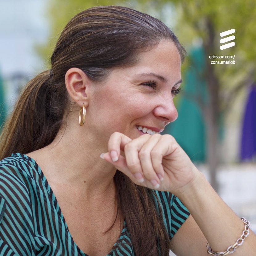
<instances>
[{"instance_id":1,"label":"woman's whole teal-and-black striped V-neck top","mask_svg":"<svg viewBox=\"0 0 256 256\"><path fill-rule=\"evenodd\" d=\"M156 191L170 239L189 212L168 192ZM132 256L126 222L115 250L107 256ZM88 256L73 241L56 197L34 159L15 153L0 161L0 256Z\"/></svg>"}]
</instances>

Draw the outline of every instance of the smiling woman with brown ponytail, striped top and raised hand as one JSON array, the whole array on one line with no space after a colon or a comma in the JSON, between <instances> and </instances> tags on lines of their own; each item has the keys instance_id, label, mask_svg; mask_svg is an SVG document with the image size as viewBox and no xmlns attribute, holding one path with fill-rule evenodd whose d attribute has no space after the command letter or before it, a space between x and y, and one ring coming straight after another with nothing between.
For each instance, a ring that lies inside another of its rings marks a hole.
<instances>
[{"instance_id":1,"label":"smiling woman with brown ponytail, striped top and raised hand","mask_svg":"<svg viewBox=\"0 0 256 256\"><path fill-rule=\"evenodd\" d=\"M244 229L235 253L253 255L249 223L159 134L177 118L184 53L125 7L67 24L2 132L0 255L206 255Z\"/></svg>"}]
</instances>

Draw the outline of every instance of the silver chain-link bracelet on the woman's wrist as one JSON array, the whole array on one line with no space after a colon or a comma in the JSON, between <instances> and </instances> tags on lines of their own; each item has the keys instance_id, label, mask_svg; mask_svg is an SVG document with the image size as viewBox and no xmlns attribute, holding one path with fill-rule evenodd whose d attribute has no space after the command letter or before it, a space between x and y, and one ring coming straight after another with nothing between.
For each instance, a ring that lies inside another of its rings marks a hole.
<instances>
[{"instance_id":1,"label":"silver chain-link bracelet on the woman's wrist","mask_svg":"<svg viewBox=\"0 0 256 256\"><path fill-rule=\"evenodd\" d=\"M209 245L209 243L207 242L207 243L206 243L206 247L208 248L208 249L207 249L207 253L208 253L208 254L211 254L211 255L213 255L213 256L225 256L225 255L228 255L228 254L232 254L232 253L237 249L238 246L242 245L243 242L244 242L244 240L245 240L245 238L246 238L246 237L249 235L249 233L250 233L250 231L249 231L250 222L249 222L249 221L246 221L245 218L241 218L241 220L242 220L242 221L244 222L244 224L245 224L245 229L243 230L241 237L239 237L239 238L237 239L237 241L235 242L234 245L229 246L229 248L228 248L227 250L225 250L225 252L214 252L214 251L212 250L212 247L211 247L211 246Z\"/></svg>"}]
</instances>

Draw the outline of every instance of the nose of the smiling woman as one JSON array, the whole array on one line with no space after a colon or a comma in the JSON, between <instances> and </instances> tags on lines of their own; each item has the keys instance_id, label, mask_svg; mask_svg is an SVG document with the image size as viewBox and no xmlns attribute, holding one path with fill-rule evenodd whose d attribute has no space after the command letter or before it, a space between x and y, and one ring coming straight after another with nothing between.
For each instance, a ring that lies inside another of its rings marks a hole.
<instances>
[{"instance_id":1,"label":"nose of the smiling woman","mask_svg":"<svg viewBox=\"0 0 256 256\"><path fill-rule=\"evenodd\" d=\"M161 103L154 109L154 114L165 122L175 121L178 117L178 111L174 105L173 97L162 98Z\"/></svg>"}]
</instances>

